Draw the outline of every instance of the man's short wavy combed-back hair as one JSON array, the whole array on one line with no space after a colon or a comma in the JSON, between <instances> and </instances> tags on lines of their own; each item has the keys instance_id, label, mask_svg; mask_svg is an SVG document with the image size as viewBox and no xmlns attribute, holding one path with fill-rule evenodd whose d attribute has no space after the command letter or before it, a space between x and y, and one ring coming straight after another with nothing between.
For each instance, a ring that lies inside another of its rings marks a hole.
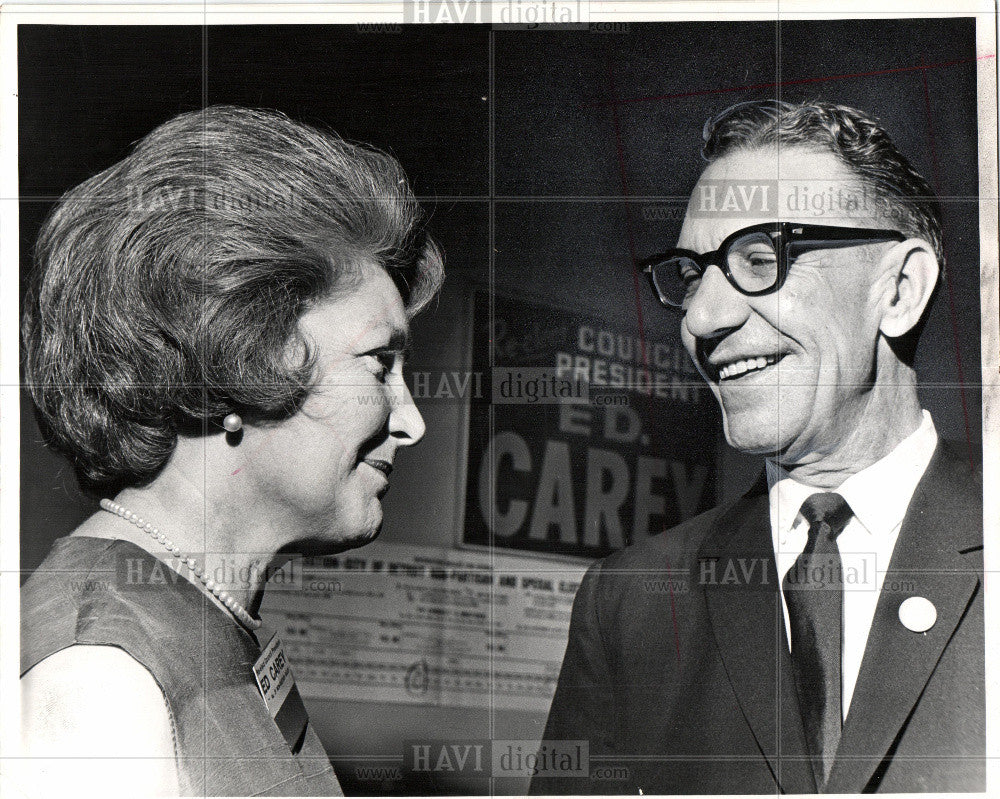
<instances>
[{"instance_id":1,"label":"man's short wavy combed-back hair","mask_svg":"<svg viewBox=\"0 0 1000 799\"><path fill-rule=\"evenodd\" d=\"M780 145L818 147L833 153L860 178L891 225L928 242L944 267L941 206L927 181L896 148L889 134L854 108L816 100L737 103L709 119L702 156L715 161L735 150Z\"/></svg>"}]
</instances>

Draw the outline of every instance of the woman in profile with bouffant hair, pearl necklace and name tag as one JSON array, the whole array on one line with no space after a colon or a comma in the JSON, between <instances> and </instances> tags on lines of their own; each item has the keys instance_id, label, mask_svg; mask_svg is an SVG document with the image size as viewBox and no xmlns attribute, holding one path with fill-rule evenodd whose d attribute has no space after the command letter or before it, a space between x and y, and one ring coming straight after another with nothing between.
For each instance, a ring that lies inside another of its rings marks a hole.
<instances>
[{"instance_id":1,"label":"woman in profile with bouffant hair, pearl necklace and name tag","mask_svg":"<svg viewBox=\"0 0 1000 799\"><path fill-rule=\"evenodd\" d=\"M25 377L102 509L22 590L33 788L340 795L256 613L291 553L378 534L442 276L394 159L274 112L178 116L62 198Z\"/></svg>"}]
</instances>

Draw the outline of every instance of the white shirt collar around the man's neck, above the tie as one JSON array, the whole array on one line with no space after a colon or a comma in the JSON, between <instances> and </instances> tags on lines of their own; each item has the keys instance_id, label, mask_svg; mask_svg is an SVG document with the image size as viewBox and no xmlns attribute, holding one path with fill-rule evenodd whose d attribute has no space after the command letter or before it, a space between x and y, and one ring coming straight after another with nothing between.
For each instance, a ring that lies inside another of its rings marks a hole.
<instances>
[{"instance_id":1,"label":"white shirt collar around the man's neck, above the tie","mask_svg":"<svg viewBox=\"0 0 1000 799\"><path fill-rule=\"evenodd\" d=\"M937 447L931 415L923 411L920 426L881 460L848 477L839 488L855 517L870 533L890 533L903 521L917 483ZM778 542L794 527L799 509L816 488L793 479L780 465L765 461L771 530Z\"/></svg>"}]
</instances>

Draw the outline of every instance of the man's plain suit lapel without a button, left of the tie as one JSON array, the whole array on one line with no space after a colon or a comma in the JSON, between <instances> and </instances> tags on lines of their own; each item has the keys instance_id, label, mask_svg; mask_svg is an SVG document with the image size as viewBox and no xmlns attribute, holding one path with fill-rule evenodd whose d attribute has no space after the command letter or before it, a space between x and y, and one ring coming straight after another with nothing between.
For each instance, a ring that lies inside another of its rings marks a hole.
<instances>
[{"instance_id":1,"label":"man's plain suit lapel without a button, left of the tie","mask_svg":"<svg viewBox=\"0 0 1000 799\"><path fill-rule=\"evenodd\" d=\"M785 793L814 793L791 677L763 476L719 519L699 560L727 676L775 782Z\"/></svg>"}]
</instances>

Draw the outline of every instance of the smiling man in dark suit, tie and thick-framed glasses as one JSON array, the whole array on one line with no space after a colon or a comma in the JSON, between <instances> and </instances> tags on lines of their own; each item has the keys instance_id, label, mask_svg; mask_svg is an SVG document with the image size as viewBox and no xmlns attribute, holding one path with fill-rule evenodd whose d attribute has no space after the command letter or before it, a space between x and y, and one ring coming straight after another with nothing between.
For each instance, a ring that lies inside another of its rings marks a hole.
<instances>
[{"instance_id":1,"label":"smiling man in dark suit, tie and thick-framed glasses","mask_svg":"<svg viewBox=\"0 0 1000 799\"><path fill-rule=\"evenodd\" d=\"M937 203L828 103L733 106L703 154L678 249L646 271L766 469L590 569L545 740L629 779L532 792L982 791L982 487L913 368Z\"/></svg>"}]
</instances>

